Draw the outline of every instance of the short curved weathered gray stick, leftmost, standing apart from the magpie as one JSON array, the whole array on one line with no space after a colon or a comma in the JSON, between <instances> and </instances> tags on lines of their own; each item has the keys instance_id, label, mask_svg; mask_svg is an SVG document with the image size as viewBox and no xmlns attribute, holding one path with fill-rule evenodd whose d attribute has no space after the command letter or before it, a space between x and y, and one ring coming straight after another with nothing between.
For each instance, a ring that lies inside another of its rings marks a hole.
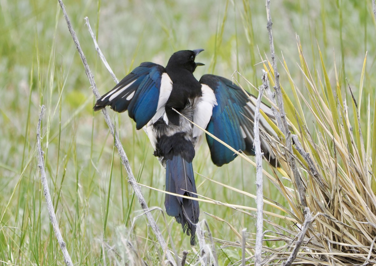
<instances>
[{"instance_id":1,"label":"short curved weathered gray stick, leftmost, standing apart from the magpie","mask_svg":"<svg viewBox=\"0 0 376 266\"><path fill-rule=\"evenodd\" d=\"M43 159L43 151L41 145L41 123L42 117L44 113L44 105L41 106L41 113L39 114L39 121L38 126L36 127L36 148L38 150L38 167L39 171L41 172L41 183L43 186L43 194L47 203L47 209L50 216L50 221L52 223L53 231L55 231L56 238L58 238L58 243L60 245L61 251L63 252L64 262L67 266L73 266L72 260L69 256L67 245L65 244L63 237L61 235L58 221L56 220L55 209L53 208L50 190L48 187L47 177L44 170L44 159Z\"/></svg>"}]
</instances>

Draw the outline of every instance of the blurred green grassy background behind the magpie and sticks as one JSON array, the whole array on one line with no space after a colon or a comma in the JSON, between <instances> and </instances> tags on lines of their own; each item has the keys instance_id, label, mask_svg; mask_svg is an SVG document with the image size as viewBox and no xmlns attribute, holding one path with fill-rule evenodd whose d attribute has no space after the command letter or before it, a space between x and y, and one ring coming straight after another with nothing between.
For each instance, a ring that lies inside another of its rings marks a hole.
<instances>
[{"instance_id":1,"label":"blurred green grassy background behind the magpie and sticks","mask_svg":"<svg viewBox=\"0 0 376 266\"><path fill-rule=\"evenodd\" d=\"M264 1L70 0L64 4L101 94L115 84L94 49L85 26L86 16L118 79L141 62L166 65L177 50L203 48L205 52L197 61L205 66L196 70L197 79L204 73L230 79L238 70L254 86L261 85L259 53L264 59L265 55L270 58ZM122 240L127 239L149 265L161 264L163 251L155 243L138 202L132 201L133 191L126 182L117 151L113 150L108 127L101 113L92 112L94 97L90 84L58 2L0 0L0 9L0 265L64 265L41 193L35 153L42 104L47 109L42 124L47 179L73 262L115 263L111 247L121 246ZM296 35L312 70L320 65L318 43L333 84L335 64L343 90L346 91L347 79L355 95L368 51L362 97L375 98L376 23L371 0L278 0L271 3L271 15L276 55L282 60L283 54L303 93L303 78L296 64ZM279 72L281 84L288 87L280 63ZM316 78L320 75L312 72ZM251 93L257 93L239 75L234 77ZM153 156L146 134L135 130L126 113L110 114L139 182L163 190L164 170ZM255 168L241 159L217 168L205 143L196 155L194 170L255 194ZM199 174L199 194L256 207L254 199ZM143 192L150 207L164 211L164 194L147 188ZM267 181L264 196L285 204L278 190ZM200 203L200 209L200 220L207 221L218 240L215 248L220 264L236 263L241 250L221 241L240 239L226 223L203 212L226 220L238 232L243 228L255 232L255 219L209 203ZM280 213L270 206L265 209ZM173 239L169 242L173 242L179 255L183 249L191 250L189 237L183 235L172 217L165 216L166 225L162 211L154 210L153 216L166 238L171 232ZM285 223L284 219L270 219ZM249 238L253 238L252 234ZM191 251L189 262L195 261L195 255ZM124 263L129 260L127 256L117 259Z\"/></svg>"}]
</instances>

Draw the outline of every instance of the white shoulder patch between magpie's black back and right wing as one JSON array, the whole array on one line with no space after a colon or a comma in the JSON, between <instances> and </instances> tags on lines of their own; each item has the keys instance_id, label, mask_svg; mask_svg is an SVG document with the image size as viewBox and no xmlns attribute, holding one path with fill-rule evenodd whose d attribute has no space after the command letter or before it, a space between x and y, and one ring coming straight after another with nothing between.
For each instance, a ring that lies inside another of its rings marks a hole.
<instances>
[{"instance_id":1,"label":"white shoulder patch between magpie's black back and right wing","mask_svg":"<svg viewBox=\"0 0 376 266\"><path fill-rule=\"evenodd\" d=\"M202 96L199 99L196 109L193 113L193 122L202 128L206 128L213 114L213 107L218 105L214 91L206 84L201 86ZM193 128L193 138L202 134L198 127Z\"/></svg>"}]
</instances>

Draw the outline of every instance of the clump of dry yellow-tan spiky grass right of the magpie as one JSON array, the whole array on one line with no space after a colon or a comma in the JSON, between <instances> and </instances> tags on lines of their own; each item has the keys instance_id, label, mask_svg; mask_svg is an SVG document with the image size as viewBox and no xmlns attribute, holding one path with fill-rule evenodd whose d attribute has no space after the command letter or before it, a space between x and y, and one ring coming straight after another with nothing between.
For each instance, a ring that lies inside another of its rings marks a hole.
<instances>
[{"instance_id":1,"label":"clump of dry yellow-tan spiky grass right of the magpie","mask_svg":"<svg viewBox=\"0 0 376 266\"><path fill-rule=\"evenodd\" d=\"M288 162L289 149L279 144L276 154L284 177L275 172L273 177L267 176L289 202L287 208L280 207L296 223L284 228L265 219L275 231L264 236L268 246L263 247L263 263L279 264L287 260L305 222L304 209L308 207L313 220L294 264L373 265L376 263L376 116L371 111L369 97L362 103L366 57L359 87L355 88L340 85L337 69L335 83L331 83L320 51L321 69L314 70L317 74L312 75L299 40L298 49L304 86L294 82L284 60L281 76L287 75L293 95L285 93L284 84L280 86L286 117L293 128L293 158L304 188L297 189ZM264 69L274 86L269 61L265 61ZM359 92L359 100L352 91ZM350 106L346 101L349 98ZM270 244L273 241L286 244L275 248Z\"/></svg>"}]
</instances>

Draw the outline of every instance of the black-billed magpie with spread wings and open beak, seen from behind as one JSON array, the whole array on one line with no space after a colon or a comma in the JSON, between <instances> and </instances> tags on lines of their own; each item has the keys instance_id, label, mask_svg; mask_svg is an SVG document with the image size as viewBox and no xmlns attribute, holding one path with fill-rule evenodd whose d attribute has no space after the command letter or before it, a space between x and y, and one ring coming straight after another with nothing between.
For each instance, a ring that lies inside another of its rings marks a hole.
<instances>
[{"instance_id":1,"label":"black-billed magpie with spread wings and open beak, seen from behind","mask_svg":"<svg viewBox=\"0 0 376 266\"><path fill-rule=\"evenodd\" d=\"M206 128L235 150L255 155L255 96L246 95L232 81L220 76L203 75L197 81L193 72L203 64L196 63L195 58L202 51L176 52L166 67L141 63L94 105L95 111L108 105L119 113L128 110L136 128L145 128L155 150L154 155L166 168L166 190L194 198L197 198L197 191L192 161L202 130L190 121ZM267 105L262 104L261 109L274 120ZM261 149L270 164L276 165L276 156L267 140L268 134L275 133L263 117L260 127ZM227 164L237 156L210 136L206 135L206 140L214 164ZM195 245L199 203L166 194L165 207L167 214L175 217L183 231L191 236L191 245Z\"/></svg>"}]
</instances>

